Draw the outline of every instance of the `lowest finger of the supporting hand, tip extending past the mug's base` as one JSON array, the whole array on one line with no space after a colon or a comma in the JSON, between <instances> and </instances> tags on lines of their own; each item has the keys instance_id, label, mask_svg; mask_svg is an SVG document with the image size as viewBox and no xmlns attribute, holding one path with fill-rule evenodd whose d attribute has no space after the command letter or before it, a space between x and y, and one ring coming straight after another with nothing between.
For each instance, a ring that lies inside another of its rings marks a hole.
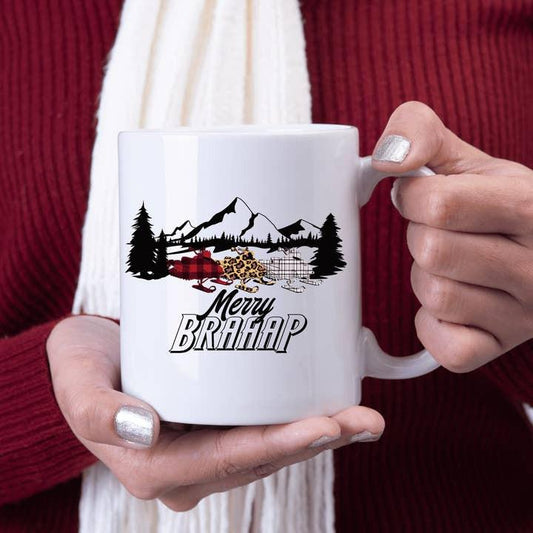
<instances>
[{"instance_id":1,"label":"lowest finger of the supporting hand, tip extending past the mug's base","mask_svg":"<svg viewBox=\"0 0 533 533\"><path fill-rule=\"evenodd\" d=\"M247 485L281 468L311 459L326 449L336 449L353 442L378 440L385 427L383 417L377 411L367 407L349 407L331 418L335 419L341 428L341 435L333 441L315 448L308 448L278 461L259 464L246 472L228 476L221 481L173 489L162 496L161 501L174 511L187 511L210 494Z\"/></svg>"}]
</instances>

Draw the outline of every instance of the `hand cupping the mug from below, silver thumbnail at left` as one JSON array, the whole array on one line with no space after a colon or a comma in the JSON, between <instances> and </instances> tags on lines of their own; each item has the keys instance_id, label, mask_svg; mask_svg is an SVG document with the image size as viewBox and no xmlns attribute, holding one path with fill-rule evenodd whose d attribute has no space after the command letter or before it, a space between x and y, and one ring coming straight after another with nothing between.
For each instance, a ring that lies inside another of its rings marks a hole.
<instances>
[{"instance_id":1,"label":"hand cupping the mug from below, silver thumbnail at left","mask_svg":"<svg viewBox=\"0 0 533 533\"><path fill-rule=\"evenodd\" d=\"M376 411L350 407L292 424L170 429L149 405L119 392L114 322L67 318L50 334L47 351L57 402L74 434L134 496L159 498L175 511L327 448L377 440L384 428Z\"/></svg>"}]
</instances>

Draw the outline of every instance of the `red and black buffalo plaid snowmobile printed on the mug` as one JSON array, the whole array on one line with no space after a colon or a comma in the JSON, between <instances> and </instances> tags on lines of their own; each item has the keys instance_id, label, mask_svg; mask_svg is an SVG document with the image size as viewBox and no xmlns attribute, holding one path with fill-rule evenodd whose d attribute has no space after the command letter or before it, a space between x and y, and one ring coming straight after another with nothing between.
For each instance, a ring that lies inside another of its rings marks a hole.
<instances>
[{"instance_id":1,"label":"red and black buffalo plaid snowmobile printed on the mug","mask_svg":"<svg viewBox=\"0 0 533 533\"><path fill-rule=\"evenodd\" d=\"M217 261L211 258L209 250L193 251L194 257L185 256L181 259L168 261L168 273L180 279L197 280L198 283L193 285L193 288L203 292L215 292L216 290L213 286L206 287L204 285L207 280L220 285L231 285L231 281L221 279L224 270Z\"/></svg>"}]
</instances>

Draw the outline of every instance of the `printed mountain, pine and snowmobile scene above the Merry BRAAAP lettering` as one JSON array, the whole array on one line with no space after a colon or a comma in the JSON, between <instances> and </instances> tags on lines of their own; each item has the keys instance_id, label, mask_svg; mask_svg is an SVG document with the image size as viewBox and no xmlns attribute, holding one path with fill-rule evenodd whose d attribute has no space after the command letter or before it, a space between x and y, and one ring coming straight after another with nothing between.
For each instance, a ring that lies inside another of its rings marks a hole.
<instances>
[{"instance_id":1,"label":"printed mountain, pine and snowmobile scene above the Merry BRAAAP lettering","mask_svg":"<svg viewBox=\"0 0 533 533\"><path fill-rule=\"evenodd\" d=\"M277 227L239 197L209 220L196 226L186 220L157 238L143 203L132 229L127 272L193 281L193 289L207 293L216 291L213 284L234 283L247 293L271 285L303 293L346 266L333 214L321 226L300 218Z\"/></svg>"}]
</instances>

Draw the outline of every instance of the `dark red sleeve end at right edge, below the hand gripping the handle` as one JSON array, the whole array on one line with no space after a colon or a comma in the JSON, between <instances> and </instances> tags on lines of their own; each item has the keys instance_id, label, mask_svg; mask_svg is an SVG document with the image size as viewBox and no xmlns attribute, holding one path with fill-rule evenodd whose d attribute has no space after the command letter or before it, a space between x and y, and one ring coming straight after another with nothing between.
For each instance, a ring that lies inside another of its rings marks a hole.
<instances>
[{"instance_id":1,"label":"dark red sleeve end at right edge, below the hand gripping the handle","mask_svg":"<svg viewBox=\"0 0 533 533\"><path fill-rule=\"evenodd\" d=\"M533 340L498 357L481 371L508 397L533 406Z\"/></svg>"}]
</instances>

